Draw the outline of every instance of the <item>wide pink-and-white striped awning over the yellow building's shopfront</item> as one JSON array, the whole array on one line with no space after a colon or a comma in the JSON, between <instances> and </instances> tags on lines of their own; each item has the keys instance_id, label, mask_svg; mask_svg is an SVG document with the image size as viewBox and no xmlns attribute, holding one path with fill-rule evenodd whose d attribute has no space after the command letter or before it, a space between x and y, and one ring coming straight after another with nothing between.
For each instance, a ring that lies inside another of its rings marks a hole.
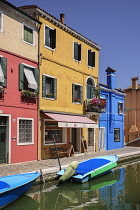
<instances>
[{"instance_id":1,"label":"wide pink-and-white striped awning over the yellow building's shopfront","mask_svg":"<svg viewBox=\"0 0 140 210\"><path fill-rule=\"evenodd\" d=\"M69 128L98 128L98 124L87 117L79 115L45 113L48 117L58 121L58 127Z\"/></svg>"}]
</instances>

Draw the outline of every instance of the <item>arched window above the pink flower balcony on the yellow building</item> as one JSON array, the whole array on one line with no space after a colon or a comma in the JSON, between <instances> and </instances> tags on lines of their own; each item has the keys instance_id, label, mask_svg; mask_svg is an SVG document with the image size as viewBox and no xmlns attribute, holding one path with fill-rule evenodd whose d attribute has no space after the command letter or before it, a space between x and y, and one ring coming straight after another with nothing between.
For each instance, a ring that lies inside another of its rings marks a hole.
<instances>
[{"instance_id":1,"label":"arched window above the pink flower balcony on the yellow building","mask_svg":"<svg viewBox=\"0 0 140 210\"><path fill-rule=\"evenodd\" d=\"M87 99L92 99L94 97L95 83L92 78L87 79Z\"/></svg>"}]
</instances>

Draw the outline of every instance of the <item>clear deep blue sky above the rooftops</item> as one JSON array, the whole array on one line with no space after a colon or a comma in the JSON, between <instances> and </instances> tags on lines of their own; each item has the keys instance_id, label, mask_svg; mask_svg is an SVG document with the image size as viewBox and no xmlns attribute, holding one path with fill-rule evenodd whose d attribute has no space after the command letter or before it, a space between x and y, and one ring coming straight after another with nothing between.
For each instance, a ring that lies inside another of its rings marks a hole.
<instances>
[{"instance_id":1,"label":"clear deep blue sky above the rooftops","mask_svg":"<svg viewBox=\"0 0 140 210\"><path fill-rule=\"evenodd\" d=\"M140 79L140 0L7 0L19 7L37 5L101 47L99 82L107 67L116 70L115 88ZM138 81L140 84L140 81Z\"/></svg>"}]
</instances>

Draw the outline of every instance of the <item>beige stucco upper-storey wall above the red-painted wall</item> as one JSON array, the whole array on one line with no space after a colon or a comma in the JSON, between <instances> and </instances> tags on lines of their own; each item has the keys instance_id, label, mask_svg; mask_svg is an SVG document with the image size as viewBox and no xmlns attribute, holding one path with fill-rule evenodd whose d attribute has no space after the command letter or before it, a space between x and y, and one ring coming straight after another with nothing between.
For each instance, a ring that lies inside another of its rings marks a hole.
<instances>
[{"instance_id":1,"label":"beige stucco upper-storey wall above the red-painted wall","mask_svg":"<svg viewBox=\"0 0 140 210\"><path fill-rule=\"evenodd\" d=\"M38 32L35 23L8 6L5 8L1 4L0 11L3 12L0 48L37 61ZM34 29L34 45L23 41L23 24L27 24Z\"/></svg>"}]
</instances>

